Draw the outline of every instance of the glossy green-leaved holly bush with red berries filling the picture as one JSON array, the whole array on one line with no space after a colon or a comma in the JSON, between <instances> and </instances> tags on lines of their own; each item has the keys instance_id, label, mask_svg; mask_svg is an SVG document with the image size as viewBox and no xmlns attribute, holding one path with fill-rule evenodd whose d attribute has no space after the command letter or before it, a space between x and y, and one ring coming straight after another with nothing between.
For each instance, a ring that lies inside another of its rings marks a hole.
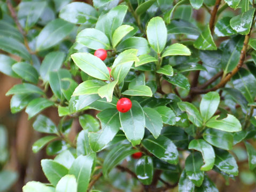
<instances>
[{"instance_id":1,"label":"glossy green-leaved holly bush with red berries filling the picture","mask_svg":"<svg viewBox=\"0 0 256 192\"><path fill-rule=\"evenodd\" d=\"M23 192L214 192L211 173L238 176L235 145L255 173L254 0L0 5L0 71L22 81L10 108L49 155L49 183Z\"/></svg>"}]
</instances>

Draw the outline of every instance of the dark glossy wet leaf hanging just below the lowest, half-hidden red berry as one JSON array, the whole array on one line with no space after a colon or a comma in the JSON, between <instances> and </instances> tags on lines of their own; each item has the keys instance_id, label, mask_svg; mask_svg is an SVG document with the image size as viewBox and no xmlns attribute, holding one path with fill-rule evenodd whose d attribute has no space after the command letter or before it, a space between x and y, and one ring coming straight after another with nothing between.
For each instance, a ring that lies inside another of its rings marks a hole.
<instances>
[{"instance_id":1,"label":"dark glossy wet leaf hanging just below the lowest, half-hidden red berry","mask_svg":"<svg viewBox=\"0 0 256 192\"><path fill-rule=\"evenodd\" d=\"M149 156L143 156L136 164L136 174L143 185L150 185L153 179L153 161Z\"/></svg>"}]
</instances>

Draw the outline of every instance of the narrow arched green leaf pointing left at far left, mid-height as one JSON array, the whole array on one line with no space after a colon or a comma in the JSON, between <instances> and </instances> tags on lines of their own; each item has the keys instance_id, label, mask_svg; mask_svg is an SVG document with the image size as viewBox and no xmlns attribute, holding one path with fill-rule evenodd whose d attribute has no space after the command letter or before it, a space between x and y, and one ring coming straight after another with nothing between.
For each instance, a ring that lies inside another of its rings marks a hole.
<instances>
[{"instance_id":1,"label":"narrow arched green leaf pointing left at far left, mid-height","mask_svg":"<svg viewBox=\"0 0 256 192\"><path fill-rule=\"evenodd\" d=\"M44 95L44 92L39 87L29 83L14 85L5 95L23 93L37 93L40 95Z\"/></svg>"}]
</instances>

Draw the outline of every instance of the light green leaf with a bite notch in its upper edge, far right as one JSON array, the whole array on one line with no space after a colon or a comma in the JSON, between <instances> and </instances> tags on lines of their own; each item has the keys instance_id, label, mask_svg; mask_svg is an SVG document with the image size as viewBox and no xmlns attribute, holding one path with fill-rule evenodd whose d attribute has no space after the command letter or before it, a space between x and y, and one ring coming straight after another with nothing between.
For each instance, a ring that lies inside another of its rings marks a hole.
<instances>
[{"instance_id":1,"label":"light green leaf with a bite notch in its upper edge, far right","mask_svg":"<svg viewBox=\"0 0 256 192\"><path fill-rule=\"evenodd\" d=\"M213 116L205 125L226 132L237 132L242 130L242 126L235 116L228 114L226 118L221 120L218 120L218 117L219 115Z\"/></svg>"}]
</instances>

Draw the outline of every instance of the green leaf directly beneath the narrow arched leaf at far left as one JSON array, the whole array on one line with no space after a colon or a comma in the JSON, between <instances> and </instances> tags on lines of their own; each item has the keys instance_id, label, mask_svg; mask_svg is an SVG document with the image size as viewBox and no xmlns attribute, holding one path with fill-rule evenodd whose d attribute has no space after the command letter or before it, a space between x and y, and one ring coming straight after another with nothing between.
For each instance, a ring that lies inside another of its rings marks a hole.
<instances>
[{"instance_id":1,"label":"green leaf directly beneath the narrow arched leaf at far left","mask_svg":"<svg viewBox=\"0 0 256 192\"><path fill-rule=\"evenodd\" d=\"M13 114L18 113L19 111L27 107L28 103L31 100L37 98L38 96L38 94L14 94L10 102L11 112Z\"/></svg>"}]
</instances>

